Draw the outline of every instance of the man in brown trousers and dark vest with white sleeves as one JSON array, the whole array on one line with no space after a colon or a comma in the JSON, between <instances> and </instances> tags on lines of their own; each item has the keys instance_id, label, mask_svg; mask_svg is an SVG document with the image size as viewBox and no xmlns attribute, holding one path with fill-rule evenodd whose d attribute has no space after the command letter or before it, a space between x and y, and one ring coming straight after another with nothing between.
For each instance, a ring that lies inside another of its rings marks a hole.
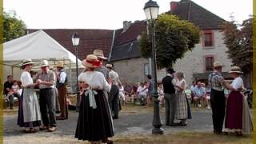
<instances>
[{"instance_id":1,"label":"man in brown trousers and dark vest with white sleeves","mask_svg":"<svg viewBox=\"0 0 256 144\"><path fill-rule=\"evenodd\" d=\"M58 62L56 65L57 71L55 71L57 82L56 87L58 89L58 102L61 109L60 116L57 116L57 120L64 120L68 118L68 107L66 105L67 98L67 75L64 71L64 65L62 62Z\"/></svg>"}]
</instances>

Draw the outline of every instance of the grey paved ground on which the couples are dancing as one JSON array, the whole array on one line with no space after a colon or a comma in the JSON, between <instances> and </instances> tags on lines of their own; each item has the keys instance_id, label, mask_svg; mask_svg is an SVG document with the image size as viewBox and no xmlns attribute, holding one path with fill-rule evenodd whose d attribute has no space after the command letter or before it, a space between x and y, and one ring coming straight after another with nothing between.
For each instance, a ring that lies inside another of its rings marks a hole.
<instances>
[{"instance_id":1,"label":"grey paved ground on which the couples are dancing","mask_svg":"<svg viewBox=\"0 0 256 144\"><path fill-rule=\"evenodd\" d=\"M140 111L138 107L138 111ZM163 111L163 110L162 110ZM211 110L192 110L192 119L188 120L187 126L170 127L163 125L165 134L181 131L212 131ZM58 130L54 133L40 131L34 134L24 134L22 129L16 125L17 113L4 116L4 143L34 143L36 139L39 143L44 143L44 139L56 140L58 138L74 138L78 113L70 112L70 118L65 121L58 121ZM114 120L114 129L116 135L126 134L150 134L152 129L153 114L151 111L146 113L123 112L120 118ZM161 113L162 123L165 122L164 113ZM74 139L74 142L77 142ZM47 142L48 143L48 142ZM54 142L55 143L55 142Z\"/></svg>"}]
</instances>

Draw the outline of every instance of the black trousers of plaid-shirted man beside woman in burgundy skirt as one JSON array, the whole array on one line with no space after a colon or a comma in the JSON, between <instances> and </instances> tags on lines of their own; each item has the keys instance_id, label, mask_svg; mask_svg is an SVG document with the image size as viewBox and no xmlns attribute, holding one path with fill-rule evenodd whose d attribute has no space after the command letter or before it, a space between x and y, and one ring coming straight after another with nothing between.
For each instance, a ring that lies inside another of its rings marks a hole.
<instances>
[{"instance_id":1,"label":"black trousers of plaid-shirted man beside woman in burgundy skirt","mask_svg":"<svg viewBox=\"0 0 256 144\"><path fill-rule=\"evenodd\" d=\"M217 132L222 132L226 110L226 99L224 91L211 89L210 105L213 112L212 118L214 123L214 130Z\"/></svg>"}]
</instances>

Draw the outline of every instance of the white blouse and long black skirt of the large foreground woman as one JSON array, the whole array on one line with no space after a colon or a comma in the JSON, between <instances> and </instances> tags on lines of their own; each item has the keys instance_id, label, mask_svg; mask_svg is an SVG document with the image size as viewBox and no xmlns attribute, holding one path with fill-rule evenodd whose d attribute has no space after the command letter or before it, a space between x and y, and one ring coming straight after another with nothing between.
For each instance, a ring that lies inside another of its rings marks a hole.
<instances>
[{"instance_id":1,"label":"white blouse and long black skirt of the large foreground woman","mask_svg":"<svg viewBox=\"0 0 256 144\"><path fill-rule=\"evenodd\" d=\"M87 71L79 75L78 81L88 83L92 90L97 92L97 94L94 94L97 107L90 106L90 98L89 95L86 95L87 90L85 90L82 94L75 138L99 141L114 136L110 106L103 92L103 90L110 91L110 86L103 74L96 71Z\"/></svg>"}]
</instances>

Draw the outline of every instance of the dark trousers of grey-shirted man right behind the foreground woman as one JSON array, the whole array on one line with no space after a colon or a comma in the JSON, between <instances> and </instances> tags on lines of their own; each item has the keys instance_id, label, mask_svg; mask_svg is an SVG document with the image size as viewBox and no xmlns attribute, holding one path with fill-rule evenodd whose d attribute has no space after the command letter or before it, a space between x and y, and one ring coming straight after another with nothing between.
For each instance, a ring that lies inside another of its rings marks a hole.
<instances>
[{"instance_id":1,"label":"dark trousers of grey-shirted man right behind the foreground woman","mask_svg":"<svg viewBox=\"0 0 256 144\"><path fill-rule=\"evenodd\" d=\"M109 94L109 103L110 103L110 109L114 114L114 117L118 118L118 103L119 103L119 89L118 86L116 85L112 85L111 86L111 90L110 90L110 94Z\"/></svg>"}]
</instances>

